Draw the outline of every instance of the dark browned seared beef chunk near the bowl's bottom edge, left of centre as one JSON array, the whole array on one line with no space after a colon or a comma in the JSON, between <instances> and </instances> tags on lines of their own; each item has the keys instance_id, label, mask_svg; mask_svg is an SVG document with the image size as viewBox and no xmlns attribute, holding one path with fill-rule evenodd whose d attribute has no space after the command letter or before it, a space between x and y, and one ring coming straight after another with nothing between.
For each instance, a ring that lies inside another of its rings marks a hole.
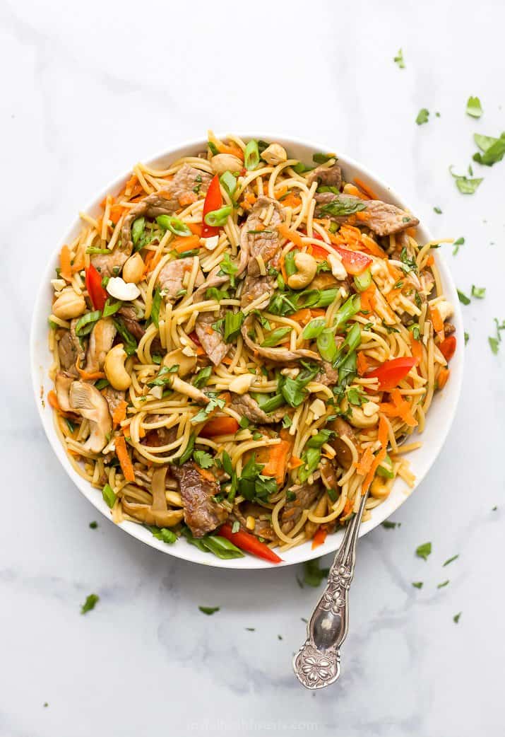
<instances>
[{"instance_id":1,"label":"dark browned seared beef chunk near the bowl's bottom edge, left of centre","mask_svg":"<svg viewBox=\"0 0 505 737\"><path fill-rule=\"evenodd\" d=\"M194 537L203 537L225 522L228 512L214 499L219 483L211 472L188 461L182 466L172 466L171 473L179 482L184 521Z\"/></svg>"}]
</instances>

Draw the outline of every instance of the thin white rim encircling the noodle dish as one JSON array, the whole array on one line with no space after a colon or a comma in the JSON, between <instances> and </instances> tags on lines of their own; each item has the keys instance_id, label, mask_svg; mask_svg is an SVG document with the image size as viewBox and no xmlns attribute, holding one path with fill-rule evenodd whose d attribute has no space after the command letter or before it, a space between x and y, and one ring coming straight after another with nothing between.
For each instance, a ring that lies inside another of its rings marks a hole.
<instances>
[{"instance_id":1,"label":"thin white rim encircling the noodle dish","mask_svg":"<svg viewBox=\"0 0 505 737\"><path fill-rule=\"evenodd\" d=\"M226 138L228 134L218 133L216 135L218 138ZM266 141L279 142L280 144L286 145L286 147L305 147L309 150L312 150L313 152L333 150L333 147L328 147L319 143L315 143L309 139L300 139L294 136L287 135L277 135L275 133L264 132L258 134L257 132L248 132L235 133L234 135L239 136L244 141L248 141L250 139L264 139ZM153 166L162 159L166 160L167 158L173 158L175 160L177 157L181 156L180 152L184 150L194 150L195 152L197 152L199 150L202 150L202 147L206 147L206 145L207 139L191 139L189 141L182 142L177 146L173 146L167 150L155 153L153 156L142 158L141 160L145 161L147 165ZM187 155L188 154L183 154L183 156ZM355 170L359 170L360 174L363 175L364 178L367 179L367 181L372 181L373 186L386 190L386 192L388 192L389 201L402 206L404 209L407 209L410 212L415 212L412 208L409 207L409 204L406 203L405 200L403 200L403 198L398 195L395 189L392 189L392 187L389 186L389 184L387 184L387 182L384 181L383 178L378 177L378 175L376 175L375 172L370 170L368 167L365 167L359 161L356 161L354 158L347 156L345 153L339 152L338 158L339 161L342 162L342 166L344 168L351 167ZM110 181L107 186L105 186L101 190L99 195L94 196L88 202L87 206L85 206L85 208L82 209L80 212L93 212L93 209L96 209L96 207L103 200L105 195L118 189L130 175L131 168L119 175L119 177L116 177L115 179ZM105 502L102 500L102 495L99 494L99 489L91 486L91 483L89 483L84 478L82 478L82 476L77 474L77 472L71 466L70 461L68 461L68 456L66 455L63 445L60 443L60 440L57 438L57 435L54 432L52 411L50 411L50 418L48 419L48 408L46 408L45 403L43 402L43 394L45 393L44 382L47 382L49 380L49 377L47 375L47 366L41 365L40 359L37 355L38 350L40 350L37 344L38 340L40 340L40 318L43 318L43 324L46 324L47 322L47 288L48 284L50 284L49 279L52 278L52 274L54 272L54 263L57 262L57 256L63 243L68 240L68 234L71 234L71 232L79 226L80 222L80 217L79 215L77 215L77 217L72 220L71 224L64 231L64 237L60 239L60 245L52 251L52 254L48 260L48 265L43 270L42 279L40 279L40 284L33 307L29 334L30 369L32 375L32 387L35 396L35 404L37 405L40 421L42 422L44 431L46 433L46 438L49 440L49 444L52 447L52 450L60 461L60 464L66 470L68 477L71 479L71 481L74 482L74 485L77 486L82 495L84 495L88 499L88 501L93 504L97 511L99 511L107 520L109 520L110 523L113 523L110 517L110 509L105 505ZM425 240L426 238L428 239L426 240L426 242L434 240L428 228L426 228L424 225L420 225L419 227L425 234L425 238L423 238L423 240ZM451 318L451 321L453 321L453 323L456 325L456 332L458 333L458 335L462 336L462 311L459 305L456 286L453 282L451 270L448 268L443 254L437 253L437 266L439 268L442 282L444 284L444 293L447 294L448 298L450 298L454 307L454 314ZM46 336L44 336L44 338L46 338ZM456 409L459 404L459 399L461 397L464 364L463 342L464 341L462 340L458 340L456 353L451 359L450 386L452 399L451 403L449 403L448 400L445 401L443 427L439 429L436 441L431 440L431 455L429 457L428 463L426 464L426 467L421 472L416 474L414 487L412 488L412 490L410 490L408 494L404 494L403 496L400 495L398 497L398 503L395 504L393 509L388 510L384 504L380 504L374 508L372 518L366 523L361 524L361 527L359 529L359 537L363 537L365 534L372 531L372 529L375 529L375 527L383 523L384 520L386 520L387 517L389 517L391 514L394 514L395 511L397 511L399 507L402 506L402 504L405 503L406 500L412 495L417 487L420 486L420 483L422 483L423 479L428 474L428 471L437 460L437 457L448 437L448 433L451 430L453 419L456 415ZM50 428L52 428L52 430ZM166 545L166 543L163 543L150 535L149 531L144 528L144 525L138 525L131 522L123 522L116 526L122 528L124 531L127 532L127 534L130 534L132 537L135 537L141 542L144 542L144 544L149 545L149 547L155 548L158 551L162 551L163 553L167 553L176 558L180 558L192 563L197 563L199 565L211 565L212 567L233 570L268 570L286 567L289 565L295 565L300 562L306 562L314 558L319 558L326 553L335 552L339 548L340 542L342 540L342 531L339 531L335 534L329 535L325 543L323 543L323 545L320 545L316 550L312 550L310 541L305 542L303 543L303 545L298 545L295 548L291 548L290 551L287 551L288 555L289 553L298 551L298 555L294 555L292 556L292 558L289 559L283 559L283 562L280 564L272 565L269 562L249 555L244 556L244 558L222 560L217 558L216 556L212 556L210 553L202 553L197 548L194 548L194 546L189 545L186 540L178 540L177 543L174 545ZM183 542L182 545L181 542Z\"/></svg>"}]
</instances>

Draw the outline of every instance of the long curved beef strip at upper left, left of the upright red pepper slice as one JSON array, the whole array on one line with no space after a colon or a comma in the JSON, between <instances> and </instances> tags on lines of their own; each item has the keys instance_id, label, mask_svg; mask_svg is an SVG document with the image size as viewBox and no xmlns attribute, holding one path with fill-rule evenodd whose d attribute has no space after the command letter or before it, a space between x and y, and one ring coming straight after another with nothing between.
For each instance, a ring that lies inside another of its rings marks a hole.
<instances>
[{"instance_id":1,"label":"long curved beef strip at upper left, left of the upright red pepper slice","mask_svg":"<svg viewBox=\"0 0 505 737\"><path fill-rule=\"evenodd\" d=\"M183 167L180 167L174 178L167 182L166 189L163 192L153 192L152 195L148 195L144 200L133 206L124 218L121 228L121 251L124 251L128 256L133 251L131 229L134 220L142 216L158 217L158 215L172 214L181 207L179 198L188 195L190 192L195 194L195 187L199 187L199 195L205 195L211 178L210 174L191 167L190 164L184 164Z\"/></svg>"}]
</instances>

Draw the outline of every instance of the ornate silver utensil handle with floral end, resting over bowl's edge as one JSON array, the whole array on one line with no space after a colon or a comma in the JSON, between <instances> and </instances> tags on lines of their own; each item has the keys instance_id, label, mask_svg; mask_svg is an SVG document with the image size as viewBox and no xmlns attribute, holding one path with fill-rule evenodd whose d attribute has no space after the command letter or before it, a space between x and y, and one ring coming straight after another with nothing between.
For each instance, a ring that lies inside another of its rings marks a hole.
<instances>
[{"instance_id":1,"label":"ornate silver utensil handle with floral end, resting over bowl's edge","mask_svg":"<svg viewBox=\"0 0 505 737\"><path fill-rule=\"evenodd\" d=\"M349 624L349 587L356 562L356 541L368 494L345 530L328 574L328 583L307 625L307 639L293 659L294 674L306 688L324 688L340 675L340 646Z\"/></svg>"}]
</instances>

